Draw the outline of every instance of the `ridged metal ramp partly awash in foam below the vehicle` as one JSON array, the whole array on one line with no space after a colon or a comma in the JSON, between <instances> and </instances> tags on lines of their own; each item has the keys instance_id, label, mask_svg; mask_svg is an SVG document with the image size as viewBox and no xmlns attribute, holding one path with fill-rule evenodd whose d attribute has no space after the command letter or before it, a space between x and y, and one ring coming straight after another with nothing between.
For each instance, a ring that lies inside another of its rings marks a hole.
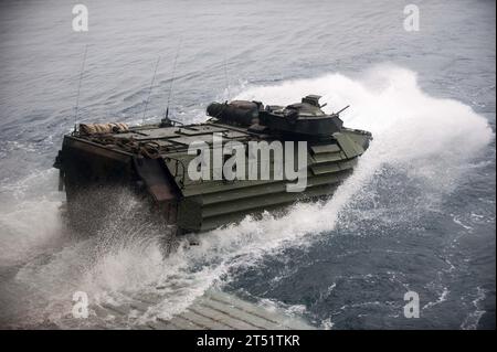
<instances>
[{"instance_id":1,"label":"ridged metal ramp partly awash in foam below the vehicle","mask_svg":"<svg viewBox=\"0 0 497 352\"><path fill-rule=\"evenodd\" d=\"M89 317L66 314L63 329L146 329L146 330L313 330L302 317L276 307L264 307L219 289L209 289L171 319L139 322L150 307L163 299L159 295L129 297L126 301L89 306Z\"/></svg>"}]
</instances>

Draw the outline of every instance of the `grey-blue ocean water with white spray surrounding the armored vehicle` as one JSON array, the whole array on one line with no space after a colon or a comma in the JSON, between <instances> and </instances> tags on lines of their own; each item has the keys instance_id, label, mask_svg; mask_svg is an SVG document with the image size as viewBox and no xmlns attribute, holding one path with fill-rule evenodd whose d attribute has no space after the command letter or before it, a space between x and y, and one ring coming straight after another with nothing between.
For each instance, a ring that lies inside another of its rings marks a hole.
<instances>
[{"instance_id":1,"label":"grey-blue ocean water with white spray surrounding the armored vehicle","mask_svg":"<svg viewBox=\"0 0 497 352\"><path fill-rule=\"evenodd\" d=\"M209 287L321 329L495 329L495 1L67 1L0 3L0 327L64 328L93 303ZM327 202L202 235L163 257L160 226L124 193L95 236L67 228L52 168L77 121L199 122L212 100L319 94L374 140ZM178 55L176 72L175 57ZM404 294L420 318L403 314ZM133 319L131 319L133 318ZM82 326L87 327L82 322ZM112 320L107 328L116 328Z\"/></svg>"}]
</instances>

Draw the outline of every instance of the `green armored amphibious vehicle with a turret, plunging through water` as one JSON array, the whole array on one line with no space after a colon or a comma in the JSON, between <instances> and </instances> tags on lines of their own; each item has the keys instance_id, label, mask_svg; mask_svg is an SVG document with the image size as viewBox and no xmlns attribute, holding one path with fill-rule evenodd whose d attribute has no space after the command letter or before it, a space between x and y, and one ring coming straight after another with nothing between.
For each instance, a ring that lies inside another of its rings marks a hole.
<instances>
[{"instance_id":1,"label":"green armored amphibious vehicle with a turret, plunging through water","mask_svg":"<svg viewBox=\"0 0 497 352\"><path fill-rule=\"evenodd\" d=\"M319 98L288 106L212 103L210 119L198 125L168 117L135 127L80 124L64 136L54 163L70 215L81 215L82 201L102 204L98 192L88 201L92 191L119 185L146 195L180 233L198 233L330 196L371 134L343 127L341 110L325 114Z\"/></svg>"}]
</instances>

